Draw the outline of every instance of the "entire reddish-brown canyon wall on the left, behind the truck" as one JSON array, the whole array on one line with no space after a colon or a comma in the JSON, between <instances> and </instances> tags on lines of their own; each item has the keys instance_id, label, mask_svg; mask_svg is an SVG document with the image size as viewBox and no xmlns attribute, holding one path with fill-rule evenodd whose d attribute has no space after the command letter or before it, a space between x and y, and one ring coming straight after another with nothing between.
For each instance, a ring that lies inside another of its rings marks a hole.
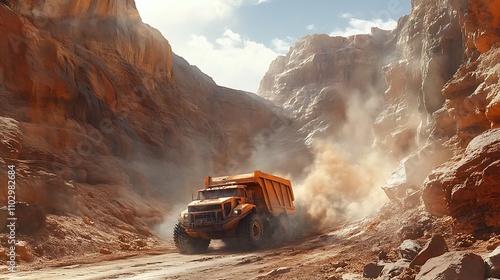
<instances>
[{"instance_id":1,"label":"entire reddish-brown canyon wall on the left, behind the truck","mask_svg":"<svg viewBox=\"0 0 500 280\"><path fill-rule=\"evenodd\" d=\"M3 1L0 17L0 161L16 200L47 214L39 255L135 246L116 237L151 236L208 174L255 168L289 123L176 56L134 1Z\"/></svg>"}]
</instances>

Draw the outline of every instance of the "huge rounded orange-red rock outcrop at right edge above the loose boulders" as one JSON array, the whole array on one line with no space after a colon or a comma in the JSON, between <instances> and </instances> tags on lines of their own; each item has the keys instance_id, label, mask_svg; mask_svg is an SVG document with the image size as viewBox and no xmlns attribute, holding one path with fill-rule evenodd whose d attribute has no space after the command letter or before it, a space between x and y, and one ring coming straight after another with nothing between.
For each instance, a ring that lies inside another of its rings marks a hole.
<instances>
[{"instance_id":1,"label":"huge rounded orange-red rock outcrop at right edge above the loose boulders","mask_svg":"<svg viewBox=\"0 0 500 280\"><path fill-rule=\"evenodd\" d=\"M461 158L433 170L424 184L427 210L452 215L462 230L500 227L500 129L475 137Z\"/></svg>"}]
</instances>

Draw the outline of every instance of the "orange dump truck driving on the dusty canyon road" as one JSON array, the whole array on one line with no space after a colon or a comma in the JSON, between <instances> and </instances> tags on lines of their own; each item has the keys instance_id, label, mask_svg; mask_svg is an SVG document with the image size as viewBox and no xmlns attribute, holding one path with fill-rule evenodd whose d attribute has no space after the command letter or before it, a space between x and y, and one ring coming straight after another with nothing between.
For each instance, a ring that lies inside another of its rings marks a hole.
<instances>
[{"instance_id":1,"label":"orange dump truck driving on the dusty canyon road","mask_svg":"<svg viewBox=\"0 0 500 280\"><path fill-rule=\"evenodd\" d=\"M175 246L181 253L203 253L212 239L236 238L242 249L287 234L288 215L296 212L289 180L255 171L206 177L205 188L178 217Z\"/></svg>"}]
</instances>

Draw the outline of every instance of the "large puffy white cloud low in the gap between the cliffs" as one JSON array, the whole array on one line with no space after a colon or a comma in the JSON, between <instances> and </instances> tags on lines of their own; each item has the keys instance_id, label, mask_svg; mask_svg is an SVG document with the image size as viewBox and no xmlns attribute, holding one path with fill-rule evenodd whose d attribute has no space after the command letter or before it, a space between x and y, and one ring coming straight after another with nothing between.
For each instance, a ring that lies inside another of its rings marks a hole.
<instances>
[{"instance_id":1,"label":"large puffy white cloud low in the gap between the cliffs","mask_svg":"<svg viewBox=\"0 0 500 280\"><path fill-rule=\"evenodd\" d=\"M273 45L281 51L286 42L275 39ZM183 56L219 85L256 92L269 64L279 54L264 44L226 29L215 42L210 42L205 36L191 35Z\"/></svg>"}]
</instances>

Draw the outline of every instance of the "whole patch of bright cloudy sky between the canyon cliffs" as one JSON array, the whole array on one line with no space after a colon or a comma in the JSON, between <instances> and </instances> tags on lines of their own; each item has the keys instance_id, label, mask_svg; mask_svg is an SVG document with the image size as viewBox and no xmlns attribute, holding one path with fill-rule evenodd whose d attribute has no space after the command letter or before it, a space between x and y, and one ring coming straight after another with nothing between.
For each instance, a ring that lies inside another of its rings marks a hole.
<instances>
[{"instance_id":1,"label":"whole patch of bright cloudy sky between the canyon cliffs","mask_svg":"<svg viewBox=\"0 0 500 280\"><path fill-rule=\"evenodd\" d=\"M309 34L391 30L410 0L136 0L143 22L221 86L257 92L271 62Z\"/></svg>"}]
</instances>

